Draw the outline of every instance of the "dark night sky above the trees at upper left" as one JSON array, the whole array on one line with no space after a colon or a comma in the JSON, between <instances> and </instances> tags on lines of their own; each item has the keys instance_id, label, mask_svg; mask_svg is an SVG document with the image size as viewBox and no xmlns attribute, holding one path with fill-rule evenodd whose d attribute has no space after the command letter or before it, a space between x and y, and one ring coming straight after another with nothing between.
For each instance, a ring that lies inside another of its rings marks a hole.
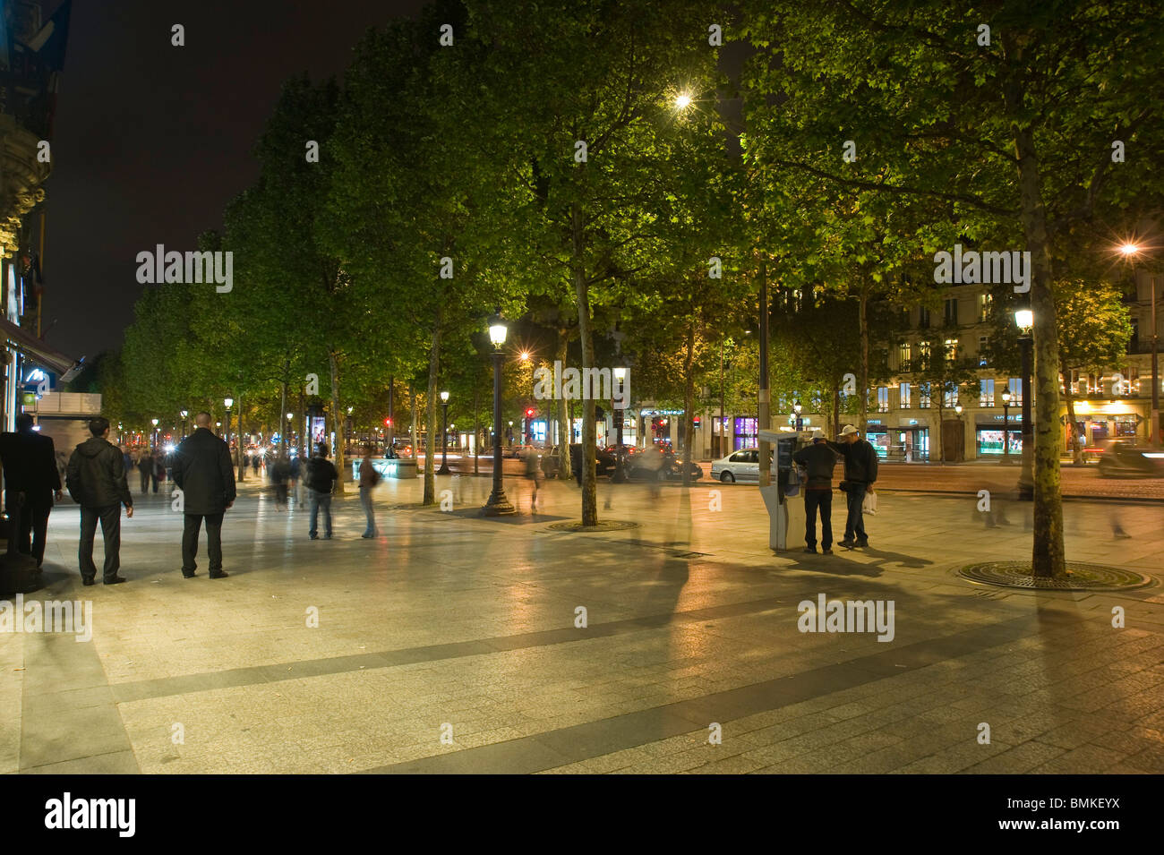
<instances>
[{"instance_id":1,"label":"dark night sky above the trees at upper left","mask_svg":"<svg viewBox=\"0 0 1164 855\"><path fill-rule=\"evenodd\" d=\"M369 27L423 0L74 0L45 184L47 341L119 347L135 256L196 248L257 177L250 149L282 83L342 76ZM47 2L45 20L58 2ZM186 44L171 47L170 28Z\"/></svg>"}]
</instances>

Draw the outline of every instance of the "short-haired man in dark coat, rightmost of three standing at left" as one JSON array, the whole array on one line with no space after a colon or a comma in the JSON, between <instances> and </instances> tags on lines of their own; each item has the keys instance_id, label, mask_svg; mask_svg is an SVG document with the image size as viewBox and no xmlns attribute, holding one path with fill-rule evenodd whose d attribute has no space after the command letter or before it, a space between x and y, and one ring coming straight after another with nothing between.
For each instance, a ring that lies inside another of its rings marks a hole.
<instances>
[{"instance_id":1,"label":"short-haired man in dark coat, rightmost of three standing at left","mask_svg":"<svg viewBox=\"0 0 1164 855\"><path fill-rule=\"evenodd\" d=\"M194 433L173 455L173 484L182 491L182 575L190 579L198 569L198 535L206 520L212 579L226 578L222 569L222 516L234 504L234 470L226 442L211 430L211 414L194 416Z\"/></svg>"}]
</instances>

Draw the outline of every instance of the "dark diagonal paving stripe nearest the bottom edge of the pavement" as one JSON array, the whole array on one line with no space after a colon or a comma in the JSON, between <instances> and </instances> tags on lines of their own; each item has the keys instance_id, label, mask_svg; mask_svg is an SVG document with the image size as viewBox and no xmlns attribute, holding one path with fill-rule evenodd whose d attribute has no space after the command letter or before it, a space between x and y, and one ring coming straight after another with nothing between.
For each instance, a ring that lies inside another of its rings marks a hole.
<instances>
[{"instance_id":1,"label":"dark diagonal paving stripe nearest the bottom edge of the pavement","mask_svg":"<svg viewBox=\"0 0 1164 855\"><path fill-rule=\"evenodd\" d=\"M546 756L531 743L552 754L568 757L568 763L592 760L615 751L637 748L672 736L707 727L712 721L724 724L746 715L779 710L845 689L853 689L885 677L907 674L943 660L977 653L1017 641L1030 634L1044 633L1048 624L1072 625L1072 618L1059 614L1036 614L1014 618L1000 624L977 627L953 635L918 641L887 649L852 662L822 665L793 677L765 681L751 686L715 692L702 698L563 727L521 739L498 742L481 748L466 748L454 754L423 757L406 763L365 769L363 774L476 774L525 775L556 767L533 768L532 761ZM902 661L910 664L902 669ZM512 760L509 751L512 750ZM482 753L482 754L478 754ZM561 763L560 765L565 765Z\"/></svg>"}]
</instances>

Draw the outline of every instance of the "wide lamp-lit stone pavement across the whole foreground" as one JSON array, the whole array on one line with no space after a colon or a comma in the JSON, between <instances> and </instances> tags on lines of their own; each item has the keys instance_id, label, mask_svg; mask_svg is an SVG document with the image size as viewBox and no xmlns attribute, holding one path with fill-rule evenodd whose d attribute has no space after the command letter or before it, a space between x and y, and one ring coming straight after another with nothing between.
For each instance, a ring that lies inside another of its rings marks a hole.
<instances>
[{"instance_id":1,"label":"wide lamp-lit stone pavement across the whole foreground","mask_svg":"<svg viewBox=\"0 0 1164 855\"><path fill-rule=\"evenodd\" d=\"M639 526L570 534L548 523L576 519L573 483L537 515L506 486L523 513L488 520L485 478L438 479L453 513L385 483L375 540L349 492L310 541L305 511L248 483L213 580L182 578L178 514L140 497L114 587L80 585L58 506L30 599L91 600L92 640L0 634L0 772L1164 771L1158 585L954 575L1029 555L1029 506L987 529L973 497L887 492L870 549L774 555L754 487L602 484L599 515ZM1162 514L1071 503L1069 557L1159 575ZM892 640L800 632L821 593L893 600Z\"/></svg>"}]
</instances>

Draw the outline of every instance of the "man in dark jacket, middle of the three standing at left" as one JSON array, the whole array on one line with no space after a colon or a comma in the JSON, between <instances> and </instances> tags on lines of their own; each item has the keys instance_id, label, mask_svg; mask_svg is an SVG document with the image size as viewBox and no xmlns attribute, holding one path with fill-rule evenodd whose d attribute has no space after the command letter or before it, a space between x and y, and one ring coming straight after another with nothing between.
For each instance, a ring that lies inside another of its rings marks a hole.
<instances>
[{"instance_id":1,"label":"man in dark jacket, middle of the three standing at left","mask_svg":"<svg viewBox=\"0 0 1164 855\"><path fill-rule=\"evenodd\" d=\"M106 585L125 582L118 576L121 567L121 506L126 516L134 515L134 497L126 483L126 464L121 451L108 441L109 420L97 416L88 422L93 434L77 446L69 458L65 486L73 501L80 505L80 546L77 557L80 562L80 578L86 585L95 584L97 567L93 564L93 535L97 521L101 520L101 537L105 540Z\"/></svg>"}]
</instances>

